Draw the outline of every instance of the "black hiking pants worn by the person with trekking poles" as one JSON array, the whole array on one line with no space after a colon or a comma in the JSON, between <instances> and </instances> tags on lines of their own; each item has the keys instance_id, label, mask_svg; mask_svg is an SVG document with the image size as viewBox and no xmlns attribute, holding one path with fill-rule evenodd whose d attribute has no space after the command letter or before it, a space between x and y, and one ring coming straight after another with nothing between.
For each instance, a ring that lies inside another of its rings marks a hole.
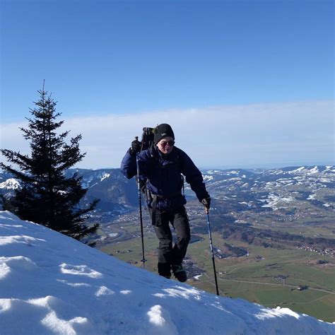
<instances>
[{"instance_id":1,"label":"black hiking pants worn by the person with trekking poles","mask_svg":"<svg viewBox=\"0 0 335 335\"><path fill-rule=\"evenodd\" d=\"M151 215L153 215L152 212ZM182 264L191 238L186 210L184 206L177 208L175 211L159 211L156 209L153 223L159 240L158 274L170 276L171 265ZM170 223L177 233L177 241L173 247Z\"/></svg>"}]
</instances>

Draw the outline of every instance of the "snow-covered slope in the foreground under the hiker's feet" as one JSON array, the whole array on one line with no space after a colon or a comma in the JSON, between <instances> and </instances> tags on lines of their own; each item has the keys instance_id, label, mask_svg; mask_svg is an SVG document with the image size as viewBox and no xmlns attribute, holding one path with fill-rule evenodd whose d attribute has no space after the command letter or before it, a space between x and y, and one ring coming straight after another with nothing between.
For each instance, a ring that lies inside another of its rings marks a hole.
<instances>
[{"instance_id":1,"label":"snow-covered slope in the foreground under the hiker's feet","mask_svg":"<svg viewBox=\"0 0 335 335\"><path fill-rule=\"evenodd\" d=\"M0 212L0 334L334 334L335 325L217 297Z\"/></svg>"}]
</instances>

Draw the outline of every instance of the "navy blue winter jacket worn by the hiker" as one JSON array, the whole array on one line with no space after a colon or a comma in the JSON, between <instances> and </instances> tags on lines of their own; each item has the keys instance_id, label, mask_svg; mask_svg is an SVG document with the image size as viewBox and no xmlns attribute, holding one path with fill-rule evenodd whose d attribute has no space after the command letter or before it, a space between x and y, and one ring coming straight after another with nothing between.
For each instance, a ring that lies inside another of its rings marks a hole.
<instances>
[{"instance_id":1,"label":"navy blue winter jacket worn by the hiker","mask_svg":"<svg viewBox=\"0 0 335 335\"><path fill-rule=\"evenodd\" d=\"M122 159L121 171L128 179L136 175L136 155L127 151ZM162 211L172 211L186 204L182 195L182 175L199 201L209 196L201 172L180 148L174 147L168 155L163 155L156 147L139 153L139 179L141 184L146 183L152 195L148 198L149 207L155 196L155 206Z\"/></svg>"}]
</instances>

